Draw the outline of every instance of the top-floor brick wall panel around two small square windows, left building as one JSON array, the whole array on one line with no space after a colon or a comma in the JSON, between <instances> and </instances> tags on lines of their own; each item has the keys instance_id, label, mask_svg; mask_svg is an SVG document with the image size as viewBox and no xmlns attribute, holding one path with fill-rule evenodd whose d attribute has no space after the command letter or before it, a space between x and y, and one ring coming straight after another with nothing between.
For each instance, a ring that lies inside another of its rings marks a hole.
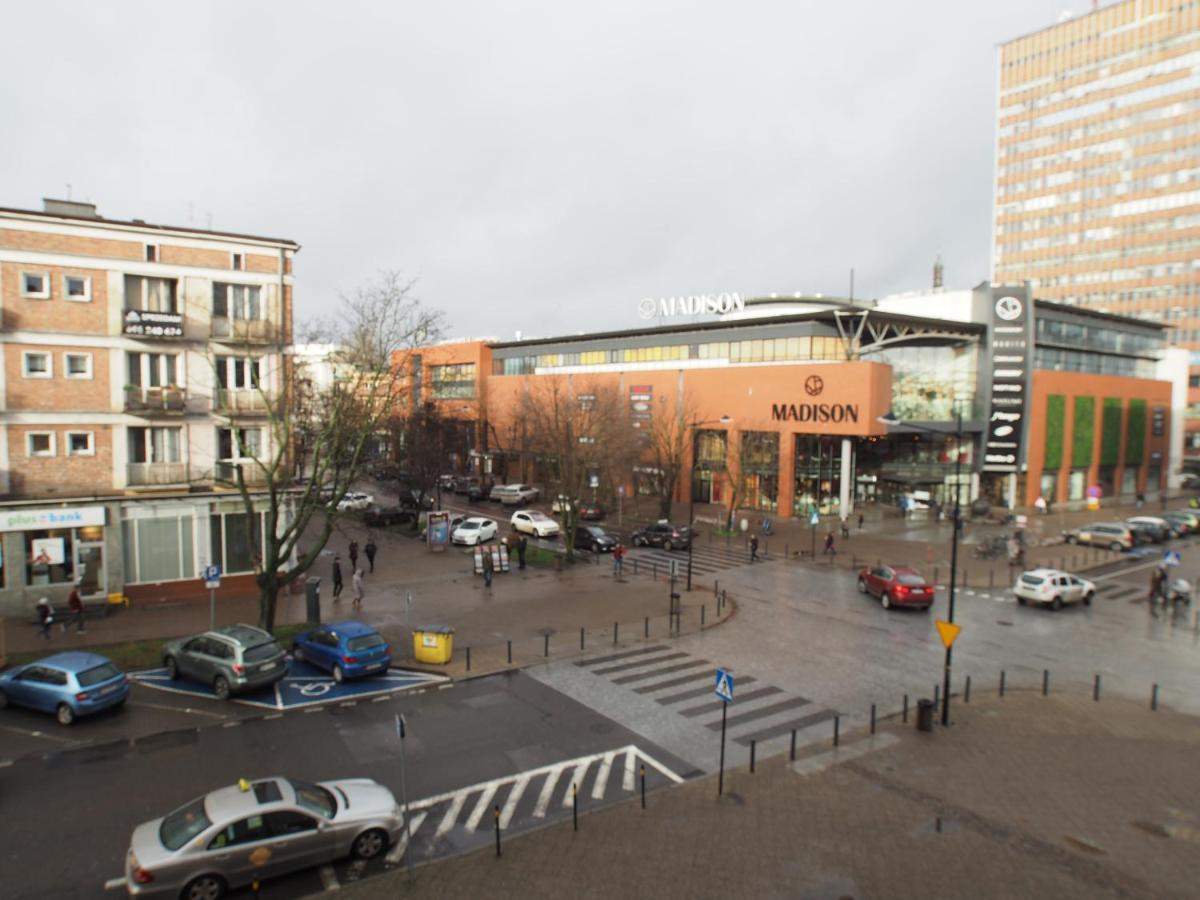
<instances>
[{"instance_id":1,"label":"top-floor brick wall panel around two small square windows, left building","mask_svg":"<svg viewBox=\"0 0 1200 900\"><path fill-rule=\"evenodd\" d=\"M2 233L0 233L2 234ZM22 272L47 272L50 276L50 296L35 300L20 295ZM67 300L64 275L79 275L91 280L91 300ZM108 331L108 275L103 269L64 268L60 265L0 264L0 298L2 326L7 331L71 331L103 335Z\"/></svg>"}]
</instances>

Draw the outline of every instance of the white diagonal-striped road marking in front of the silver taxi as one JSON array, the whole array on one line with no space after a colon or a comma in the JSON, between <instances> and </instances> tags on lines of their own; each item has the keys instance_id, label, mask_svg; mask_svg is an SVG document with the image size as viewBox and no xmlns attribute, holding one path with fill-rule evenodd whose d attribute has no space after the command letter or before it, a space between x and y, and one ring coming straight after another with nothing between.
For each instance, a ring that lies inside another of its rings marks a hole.
<instances>
[{"instance_id":1,"label":"white diagonal-striped road marking in front of the silver taxi","mask_svg":"<svg viewBox=\"0 0 1200 900\"><path fill-rule=\"evenodd\" d=\"M642 767L647 790L683 781L682 775L629 744L426 797L409 804L408 833L392 845L385 863L400 865L409 840L413 862L433 859L490 841L497 821L504 832L564 815L572 803L618 800L641 790Z\"/></svg>"}]
</instances>

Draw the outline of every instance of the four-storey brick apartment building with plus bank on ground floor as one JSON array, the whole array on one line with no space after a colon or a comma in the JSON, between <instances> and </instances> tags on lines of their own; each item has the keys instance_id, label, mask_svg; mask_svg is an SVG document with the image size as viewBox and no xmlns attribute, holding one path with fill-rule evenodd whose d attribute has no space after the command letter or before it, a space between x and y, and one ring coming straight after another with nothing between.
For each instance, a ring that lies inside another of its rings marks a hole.
<instances>
[{"instance_id":1,"label":"four-storey brick apartment building with plus bank on ground floor","mask_svg":"<svg viewBox=\"0 0 1200 900\"><path fill-rule=\"evenodd\" d=\"M0 613L252 577L234 468L269 452L294 241L0 209ZM229 584L229 582L227 582Z\"/></svg>"}]
</instances>

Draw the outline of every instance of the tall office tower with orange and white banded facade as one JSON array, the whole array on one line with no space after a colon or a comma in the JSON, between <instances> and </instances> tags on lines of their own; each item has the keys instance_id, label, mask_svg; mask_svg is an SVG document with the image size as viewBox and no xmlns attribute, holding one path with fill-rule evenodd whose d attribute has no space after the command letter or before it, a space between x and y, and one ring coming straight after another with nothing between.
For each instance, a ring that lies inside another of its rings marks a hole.
<instances>
[{"instance_id":1,"label":"tall office tower with orange and white banded facade","mask_svg":"<svg viewBox=\"0 0 1200 900\"><path fill-rule=\"evenodd\" d=\"M1200 1L1093 8L998 67L992 281L1170 325L1200 414Z\"/></svg>"}]
</instances>

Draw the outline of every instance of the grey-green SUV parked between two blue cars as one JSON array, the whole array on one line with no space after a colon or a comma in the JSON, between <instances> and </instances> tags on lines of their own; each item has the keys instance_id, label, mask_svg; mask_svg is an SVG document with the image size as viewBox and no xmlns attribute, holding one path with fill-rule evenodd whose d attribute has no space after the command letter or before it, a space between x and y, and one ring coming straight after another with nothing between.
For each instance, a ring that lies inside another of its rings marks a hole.
<instances>
[{"instance_id":1,"label":"grey-green SUV parked between two blue cars","mask_svg":"<svg viewBox=\"0 0 1200 900\"><path fill-rule=\"evenodd\" d=\"M169 641L162 664L172 679L208 684L221 700L269 688L288 672L288 658L270 634L253 625L224 625Z\"/></svg>"}]
</instances>

